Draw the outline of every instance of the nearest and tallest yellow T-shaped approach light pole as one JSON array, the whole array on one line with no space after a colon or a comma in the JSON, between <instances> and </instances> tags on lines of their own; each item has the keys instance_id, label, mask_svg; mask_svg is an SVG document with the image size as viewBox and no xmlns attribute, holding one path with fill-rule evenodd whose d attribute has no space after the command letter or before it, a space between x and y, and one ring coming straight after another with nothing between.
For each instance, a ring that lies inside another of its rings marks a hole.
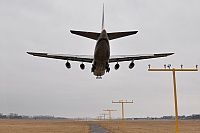
<instances>
[{"instance_id":1,"label":"nearest and tallest yellow T-shaped approach light pole","mask_svg":"<svg viewBox=\"0 0 200 133\"><path fill-rule=\"evenodd\" d=\"M196 68L183 68L181 64L181 68L171 68L171 64L164 65L164 68L150 68L151 65L149 64L148 71L165 71L165 72L172 72L173 75L173 83L174 83L174 105L175 105L175 116L176 116L176 133L179 133L179 126L178 126L178 102L177 102L177 92L176 92L176 71L178 72L189 72L189 71L198 71L198 65ZM168 68L167 68L168 67Z\"/></svg>"}]
</instances>

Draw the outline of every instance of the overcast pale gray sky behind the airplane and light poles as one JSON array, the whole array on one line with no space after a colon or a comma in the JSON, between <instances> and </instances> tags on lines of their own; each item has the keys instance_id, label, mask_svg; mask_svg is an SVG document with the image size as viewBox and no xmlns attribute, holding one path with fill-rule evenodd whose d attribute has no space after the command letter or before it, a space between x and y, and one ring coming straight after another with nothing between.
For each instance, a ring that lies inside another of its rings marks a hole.
<instances>
[{"instance_id":1,"label":"overcast pale gray sky behind the airplane and light poles","mask_svg":"<svg viewBox=\"0 0 200 133\"><path fill-rule=\"evenodd\" d=\"M27 51L92 55L94 40L70 34L70 29L100 32L102 6L108 32L138 30L136 35L110 42L112 55L174 52L173 56L111 64L102 80L71 62L45 59ZM0 112L24 115L96 117L103 109L133 100L125 117L174 115L170 72L162 68L200 65L200 1L198 0L0 0ZM200 113L200 73L177 73L179 115Z\"/></svg>"}]
</instances>

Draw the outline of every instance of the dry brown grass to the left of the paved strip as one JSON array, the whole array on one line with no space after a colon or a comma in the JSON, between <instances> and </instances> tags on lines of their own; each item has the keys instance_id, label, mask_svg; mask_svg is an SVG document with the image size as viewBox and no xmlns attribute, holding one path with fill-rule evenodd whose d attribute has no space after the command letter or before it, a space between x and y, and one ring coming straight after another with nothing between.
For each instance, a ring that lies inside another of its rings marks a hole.
<instances>
[{"instance_id":1,"label":"dry brown grass to the left of the paved strip","mask_svg":"<svg viewBox=\"0 0 200 133\"><path fill-rule=\"evenodd\" d=\"M0 133L89 133L87 123L66 120L0 120Z\"/></svg>"}]
</instances>

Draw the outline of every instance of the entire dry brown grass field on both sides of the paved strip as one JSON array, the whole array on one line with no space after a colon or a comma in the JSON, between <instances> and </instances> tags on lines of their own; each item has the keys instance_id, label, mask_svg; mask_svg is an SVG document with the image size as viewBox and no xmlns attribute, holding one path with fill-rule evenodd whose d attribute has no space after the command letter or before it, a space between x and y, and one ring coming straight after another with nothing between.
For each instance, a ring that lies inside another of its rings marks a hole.
<instances>
[{"instance_id":1,"label":"entire dry brown grass field on both sides of the paved strip","mask_svg":"<svg viewBox=\"0 0 200 133\"><path fill-rule=\"evenodd\" d=\"M121 121L109 126L103 121L0 120L0 133L90 133L90 124L100 124L112 133L122 133ZM179 121L180 133L200 133L200 121ZM126 121L125 133L175 133L175 121Z\"/></svg>"}]
</instances>

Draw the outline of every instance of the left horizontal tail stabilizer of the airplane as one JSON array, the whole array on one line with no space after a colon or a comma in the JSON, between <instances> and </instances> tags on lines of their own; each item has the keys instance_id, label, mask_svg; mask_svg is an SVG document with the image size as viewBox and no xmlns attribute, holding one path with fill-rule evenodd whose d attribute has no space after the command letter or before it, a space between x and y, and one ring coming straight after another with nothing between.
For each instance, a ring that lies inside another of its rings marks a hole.
<instances>
[{"instance_id":1,"label":"left horizontal tail stabilizer of the airplane","mask_svg":"<svg viewBox=\"0 0 200 133\"><path fill-rule=\"evenodd\" d=\"M95 33L95 32L86 32L86 31L74 31L74 30L70 30L70 32L72 34L76 34L79 36L83 36L86 38L90 38L90 39L94 39L94 40L98 40L100 33Z\"/></svg>"}]
</instances>

